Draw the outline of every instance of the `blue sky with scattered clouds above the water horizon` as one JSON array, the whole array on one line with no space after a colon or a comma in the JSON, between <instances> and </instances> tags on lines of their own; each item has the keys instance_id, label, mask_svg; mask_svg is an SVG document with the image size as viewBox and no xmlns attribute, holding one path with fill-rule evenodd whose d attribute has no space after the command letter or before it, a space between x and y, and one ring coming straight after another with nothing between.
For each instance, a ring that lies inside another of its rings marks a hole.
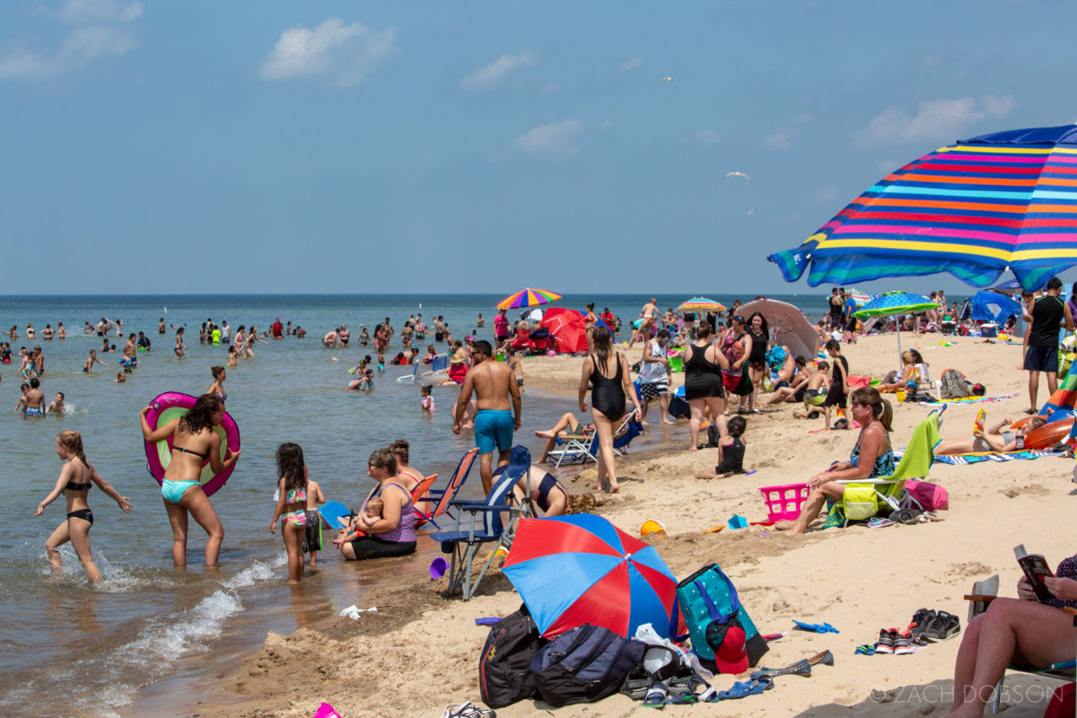
<instances>
[{"instance_id":1,"label":"blue sky with scattered clouds above the water horizon","mask_svg":"<svg viewBox=\"0 0 1077 718\"><path fill-rule=\"evenodd\" d=\"M6 2L0 294L810 291L766 255L881 175L1077 118L1073 19L1062 0Z\"/></svg>"}]
</instances>

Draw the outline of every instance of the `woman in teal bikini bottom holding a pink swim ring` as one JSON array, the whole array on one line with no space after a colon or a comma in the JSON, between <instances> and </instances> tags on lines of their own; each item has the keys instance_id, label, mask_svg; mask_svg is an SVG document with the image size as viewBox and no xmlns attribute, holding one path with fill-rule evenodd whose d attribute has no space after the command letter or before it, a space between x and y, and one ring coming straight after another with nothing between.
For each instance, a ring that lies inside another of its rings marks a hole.
<instances>
[{"instance_id":1,"label":"woman in teal bikini bottom holding a pink swim ring","mask_svg":"<svg viewBox=\"0 0 1077 718\"><path fill-rule=\"evenodd\" d=\"M164 441L172 438L172 456L165 469L165 478L160 484L160 494L165 499L165 510L172 525L172 563L176 567L187 563L187 515L194 517L206 530L206 565L216 563L221 552L221 541L224 539L224 527L209 503L209 497L201 490L198 477L201 475L202 462L209 459L210 468L220 474L239 459L240 452L225 454L221 460L221 437L213 427L221 423L224 405L212 394L198 397L194 407L185 416L173 419L164 426L151 430L146 413L151 407L141 412L142 436L146 441Z\"/></svg>"}]
</instances>

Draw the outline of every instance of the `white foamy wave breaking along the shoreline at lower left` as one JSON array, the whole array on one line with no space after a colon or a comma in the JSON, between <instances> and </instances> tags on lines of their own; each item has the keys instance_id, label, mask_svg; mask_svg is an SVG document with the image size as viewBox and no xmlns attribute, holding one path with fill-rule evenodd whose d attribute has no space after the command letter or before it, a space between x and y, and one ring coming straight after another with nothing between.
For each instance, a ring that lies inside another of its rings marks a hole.
<instances>
[{"instance_id":1,"label":"white foamy wave breaking along the shoreline at lower left","mask_svg":"<svg viewBox=\"0 0 1077 718\"><path fill-rule=\"evenodd\" d=\"M274 578L274 569L286 562L286 554L255 561L235 576L222 580L219 589L191 608L151 619L134 640L104 656L73 660L51 668L47 679L30 680L0 693L0 703L28 706L28 702L40 700L42 695L51 694L54 686L62 685L67 687L67 705L54 704L44 712L39 705L33 715L118 718L116 709L128 705L146 684L171 671L172 663L179 658L210 649L225 621L243 610L238 589ZM65 578L78 581L75 571L81 573L78 561L70 571L65 565ZM128 576L122 571L113 571L106 582L115 581L116 592L124 592L125 581L144 580L135 572Z\"/></svg>"}]
</instances>

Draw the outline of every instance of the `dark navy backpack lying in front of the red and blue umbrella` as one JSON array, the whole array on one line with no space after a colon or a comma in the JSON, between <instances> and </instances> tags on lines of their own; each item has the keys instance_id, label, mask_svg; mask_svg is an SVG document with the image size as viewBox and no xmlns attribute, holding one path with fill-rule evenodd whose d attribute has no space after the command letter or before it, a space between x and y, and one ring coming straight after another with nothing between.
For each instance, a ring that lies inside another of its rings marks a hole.
<instances>
[{"instance_id":1,"label":"dark navy backpack lying in front of the red and blue umbrella","mask_svg":"<svg viewBox=\"0 0 1077 718\"><path fill-rule=\"evenodd\" d=\"M646 645L584 623L549 642L531 659L531 674L553 706L591 703L616 693L643 661Z\"/></svg>"}]
</instances>

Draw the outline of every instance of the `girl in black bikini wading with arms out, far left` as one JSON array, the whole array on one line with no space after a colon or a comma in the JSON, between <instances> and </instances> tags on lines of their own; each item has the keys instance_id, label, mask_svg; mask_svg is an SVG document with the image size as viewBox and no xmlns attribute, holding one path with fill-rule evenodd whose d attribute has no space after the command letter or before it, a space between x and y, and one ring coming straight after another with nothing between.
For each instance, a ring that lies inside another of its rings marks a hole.
<instances>
[{"instance_id":1,"label":"girl in black bikini wading with arms out, far left","mask_svg":"<svg viewBox=\"0 0 1077 718\"><path fill-rule=\"evenodd\" d=\"M97 569L94 558L89 552L89 527L94 525L94 512L86 504L86 496L89 493L90 482L104 492L106 496L114 499L120 508L130 512L135 509L127 503L126 496L121 496L120 492L112 488L108 481L101 478L93 464L86 461L86 454L82 451L82 436L79 432L60 432L56 435L56 453L66 464L60 469L60 478L56 480L56 487L50 492L45 499L38 504L38 510L33 516L41 516L45 507L52 504L62 492L67 497L67 519L45 541L45 551L48 553L48 563L53 568L53 576L64 573L60 562L59 548L64 544L71 541L74 552L82 562L83 571L90 583L101 582L101 572Z\"/></svg>"}]
</instances>

